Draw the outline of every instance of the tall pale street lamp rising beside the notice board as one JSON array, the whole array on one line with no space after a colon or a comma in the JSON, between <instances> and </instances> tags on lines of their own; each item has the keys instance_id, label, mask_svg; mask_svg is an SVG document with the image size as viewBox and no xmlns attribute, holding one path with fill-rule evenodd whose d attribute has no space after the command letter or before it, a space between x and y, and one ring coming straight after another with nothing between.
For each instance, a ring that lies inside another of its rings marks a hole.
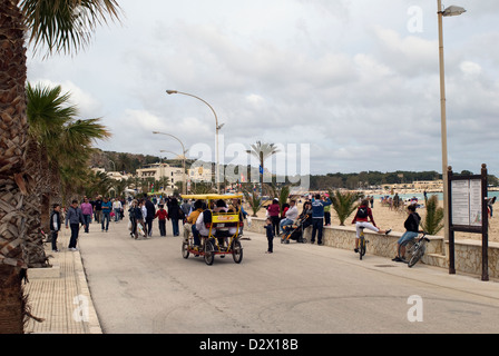
<instances>
[{"instance_id":1,"label":"tall pale street lamp rising beside the notice board","mask_svg":"<svg viewBox=\"0 0 499 356\"><path fill-rule=\"evenodd\" d=\"M439 17L439 58L440 58L440 125L442 136L442 180L443 180L443 237L449 240L449 181L447 162L447 112L446 112L446 75L443 63L443 17L459 16L466 10L460 7L450 6L442 10L442 0L438 2Z\"/></svg>"}]
</instances>

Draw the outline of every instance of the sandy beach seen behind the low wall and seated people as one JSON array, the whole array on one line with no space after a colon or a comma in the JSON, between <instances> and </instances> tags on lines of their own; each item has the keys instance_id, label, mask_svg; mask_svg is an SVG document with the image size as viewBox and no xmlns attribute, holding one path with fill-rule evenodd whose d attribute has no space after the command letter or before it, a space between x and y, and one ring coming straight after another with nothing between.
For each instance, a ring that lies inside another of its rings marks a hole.
<instances>
[{"instance_id":1,"label":"sandy beach seen behind the low wall and seated people","mask_svg":"<svg viewBox=\"0 0 499 356\"><path fill-rule=\"evenodd\" d=\"M303 199L302 199L303 202ZM440 201L440 205L443 206L442 201ZM302 204L299 202L297 205L299 211L302 212ZM244 206L245 210L251 214L251 208L247 206L247 204ZM390 209L387 206L383 206L381 204L380 199L374 199L374 208L372 209L374 221L378 227L382 229L393 229L393 231L405 231L403 227L403 222L407 219L407 212L405 211L395 211ZM418 214L421 216L421 219L424 219L425 216L425 209L420 208L417 210ZM499 243L499 217L497 216L495 211L495 215L491 219L489 219L489 241ZM265 209L261 209L257 214L258 217L264 218L265 217ZM353 219L353 215L350 216L346 221L345 226L351 226L351 221ZM335 216L334 210L331 211L331 225L339 226L340 220ZM438 236L443 236L443 229L440 230ZM473 240L481 240L482 236L481 234L470 234L470 233L456 233L456 239L466 240L466 239L473 239Z\"/></svg>"}]
</instances>

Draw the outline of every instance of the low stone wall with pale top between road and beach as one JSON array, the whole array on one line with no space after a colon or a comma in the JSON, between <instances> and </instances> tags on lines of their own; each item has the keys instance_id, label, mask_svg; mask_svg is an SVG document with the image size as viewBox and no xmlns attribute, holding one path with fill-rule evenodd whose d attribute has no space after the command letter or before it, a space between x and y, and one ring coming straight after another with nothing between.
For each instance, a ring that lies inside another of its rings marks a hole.
<instances>
[{"instance_id":1,"label":"low stone wall with pale top between road and beach","mask_svg":"<svg viewBox=\"0 0 499 356\"><path fill-rule=\"evenodd\" d=\"M246 229L253 233L265 234L265 219L251 218L251 225L246 224ZM397 254L397 241L403 233L392 231L384 236L364 229L365 238L369 240L368 254L393 258ZM355 246L354 226L325 226L323 229L324 246L350 249L353 253ZM305 230L305 237L309 243L312 236L312 227ZM448 251L449 244L443 241L441 236L428 236L427 253L422 263L442 268L449 268ZM457 240L456 241L456 270L481 276L481 241L478 240ZM446 250L446 254L443 254ZM499 278L499 244L489 243L489 277Z\"/></svg>"}]
</instances>

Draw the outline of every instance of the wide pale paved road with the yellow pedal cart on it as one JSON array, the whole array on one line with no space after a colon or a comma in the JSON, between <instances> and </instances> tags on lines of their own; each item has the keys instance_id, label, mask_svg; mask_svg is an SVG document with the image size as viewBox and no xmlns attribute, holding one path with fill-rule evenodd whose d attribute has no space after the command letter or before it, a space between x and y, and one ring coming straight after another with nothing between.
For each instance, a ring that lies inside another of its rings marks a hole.
<instances>
[{"instance_id":1,"label":"wide pale paved road with the yellow pedal cart on it","mask_svg":"<svg viewBox=\"0 0 499 356\"><path fill-rule=\"evenodd\" d=\"M155 226L155 229L157 227ZM104 333L497 333L499 284L316 245L265 254L246 233L244 258L213 266L180 255L180 237L131 239L126 222L80 238Z\"/></svg>"}]
</instances>

